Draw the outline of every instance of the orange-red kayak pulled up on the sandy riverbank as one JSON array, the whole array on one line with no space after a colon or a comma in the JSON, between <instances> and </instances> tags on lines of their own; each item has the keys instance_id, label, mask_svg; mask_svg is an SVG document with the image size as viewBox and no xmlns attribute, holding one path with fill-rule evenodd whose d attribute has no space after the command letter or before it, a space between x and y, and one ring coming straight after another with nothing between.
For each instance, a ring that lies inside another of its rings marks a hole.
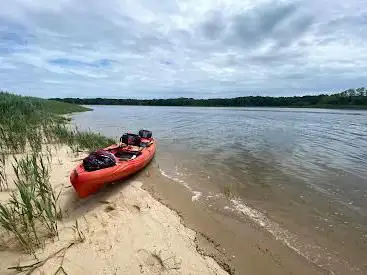
<instances>
[{"instance_id":1,"label":"orange-red kayak pulled up on the sandy riverbank","mask_svg":"<svg viewBox=\"0 0 367 275\"><path fill-rule=\"evenodd\" d=\"M109 157L109 161L112 161L110 167L93 171L86 165L86 159L84 159L83 163L73 169L70 174L70 182L79 197L85 198L98 191L106 183L122 180L148 165L155 154L155 140L151 137L139 138L138 143L135 142L133 145L129 143L130 140L99 150L105 152L105 157Z\"/></svg>"}]
</instances>

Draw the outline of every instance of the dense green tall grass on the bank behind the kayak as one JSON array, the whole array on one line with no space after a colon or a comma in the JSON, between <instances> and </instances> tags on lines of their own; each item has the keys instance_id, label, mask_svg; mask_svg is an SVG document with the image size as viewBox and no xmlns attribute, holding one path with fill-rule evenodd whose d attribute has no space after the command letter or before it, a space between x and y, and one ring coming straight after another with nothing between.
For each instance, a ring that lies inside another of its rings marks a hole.
<instances>
[{"instance_id":1,"label":"dense green tall grass on the bank behind the kayak","mask_svg":"<svg viewBox=\"0 0 367 275\"><path fill-rule=\"evenodd\" d=\"M92 132L70 129L68 119L58 114L87 110L64 102L0 93L0 149L4 153L34 152L42 144L63 143L74 151L93 151L114 143L113 139ZM52 111L52 112L51 112Z\"/></svg>"}]
</instances>

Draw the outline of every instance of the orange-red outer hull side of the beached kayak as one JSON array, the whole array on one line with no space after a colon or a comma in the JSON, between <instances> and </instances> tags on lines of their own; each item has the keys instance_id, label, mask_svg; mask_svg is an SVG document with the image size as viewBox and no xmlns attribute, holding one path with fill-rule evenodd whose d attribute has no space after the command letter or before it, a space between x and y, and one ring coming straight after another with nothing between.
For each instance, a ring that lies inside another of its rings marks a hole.
<instances>
[{"instance_id":1,"label":"orange-red outer hull side of the beached kayak","mask_svg":"<svg viewBox=\"0 0 367 275\"><path fill-rule=\"evenodd\" d=\"M113 153L114 147L111 145L104 150ZM123 180L136 172L142 170L153 159L156 150L156 143L152 139L151 144L141 150L141 153L135 159L119 160L116 158L116 165L96 171L86 171L83 163L80 163L70 173L70 182L80 198L85 198L99 189L105 184L118 180Z\"/></svg>"}]
</instances>

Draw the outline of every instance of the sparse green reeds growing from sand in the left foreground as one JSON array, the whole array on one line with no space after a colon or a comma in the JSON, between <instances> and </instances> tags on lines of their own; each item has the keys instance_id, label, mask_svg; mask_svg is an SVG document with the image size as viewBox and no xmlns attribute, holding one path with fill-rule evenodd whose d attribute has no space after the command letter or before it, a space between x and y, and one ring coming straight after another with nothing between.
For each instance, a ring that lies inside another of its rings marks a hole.
<instances>
[{"instance_id":1,"label":"sparse green reeds growing from sand in the left foreground","mask_svg":"<svg viewBox=\"0 0 367 275\"><path fill-rule=\"evenodd\" d=\"M34 252L45 236L57 236L60 209L49 181L49 167L38 153L13 163L16 190L0 204L0 225L28 251ZM39 234L42 234L40 236Z\"/></svg>"}]
</instances>

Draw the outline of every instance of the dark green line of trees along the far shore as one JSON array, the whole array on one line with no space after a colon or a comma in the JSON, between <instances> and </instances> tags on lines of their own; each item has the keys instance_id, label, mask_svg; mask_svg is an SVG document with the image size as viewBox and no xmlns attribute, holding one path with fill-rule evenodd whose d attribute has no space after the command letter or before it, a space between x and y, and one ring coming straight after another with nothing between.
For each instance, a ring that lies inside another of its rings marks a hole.
<instances>
[{"instance_id":1,"label":"dark green line of trees along the far shore","mask_svg":"<svg viewBox=\"0 0 367 275\"><path fill-rule=\"evenodd\" d=\"M109 99L55 98L56 101L83 105L147 105L203 107L303 107L303 108L367 108L367 90L349 89L337 94L293 97L247 96L236 98L170 98L170 99Z\"/></svg>"}]
</instances>

